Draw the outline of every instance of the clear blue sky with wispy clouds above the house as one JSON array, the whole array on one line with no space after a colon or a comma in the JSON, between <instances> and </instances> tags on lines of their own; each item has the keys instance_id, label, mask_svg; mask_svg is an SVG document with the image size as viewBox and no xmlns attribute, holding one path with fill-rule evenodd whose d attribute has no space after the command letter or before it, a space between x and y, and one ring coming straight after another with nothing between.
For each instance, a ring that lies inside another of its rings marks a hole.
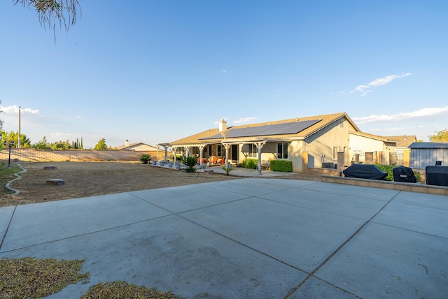
<instances>
[{"instance_id":1,"label":"clear blue sky with wispy clouds above the house","mask_svg":"<svg viewBox=\"0 0 448 299\"><path fill-rule=\"evenodd\" d=\"M0 1L0 119L116 147L347 112L380 136L448 128L448 1L80 1L66 33Z\"/></svg>"}]
</instances>

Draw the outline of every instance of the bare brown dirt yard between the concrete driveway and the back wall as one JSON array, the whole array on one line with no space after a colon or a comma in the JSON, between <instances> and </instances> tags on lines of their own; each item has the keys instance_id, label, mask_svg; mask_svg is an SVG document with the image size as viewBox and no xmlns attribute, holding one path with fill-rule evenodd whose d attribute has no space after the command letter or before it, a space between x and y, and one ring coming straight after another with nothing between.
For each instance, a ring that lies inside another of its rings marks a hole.
<instances>
[{"instance_id":1,"label":"bare brown dirt yard between the concrete driveway and the back wall","mask_svg":"<svg viewBox=\"0 0 448 299\"><path fill-rule=\"evenodd\" d=\"M186 173L152 165L123 162L22 162L27 171L10 187L20 191L18 195L4 195L0 207L25 205L51 200L83 198L103 194L157 189L164 187L237 180L241 177L218 173ZM44 170L44 166L56 169ZM280 178L316 180L315 177L288 175ZM60 179L63 185L48 185L47 180Z\"/></svg>"}]
</instances>

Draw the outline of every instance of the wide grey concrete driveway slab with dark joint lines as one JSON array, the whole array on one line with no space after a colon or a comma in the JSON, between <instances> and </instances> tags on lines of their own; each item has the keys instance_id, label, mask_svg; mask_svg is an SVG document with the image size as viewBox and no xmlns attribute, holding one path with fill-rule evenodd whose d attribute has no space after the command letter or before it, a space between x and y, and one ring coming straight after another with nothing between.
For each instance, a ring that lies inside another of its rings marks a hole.
<instances>
[{"instance_id":1,"label":"wide grey concrete driveway slab with dark joint lines","mask_svg":"<svg viewBox=\"0 0 448 299\"><path fill-rule=\"evenodd\" d=\"M0 208L0 258L184 298L447 298L448 198L247 178Z\"/></svg>"}]
</instances>

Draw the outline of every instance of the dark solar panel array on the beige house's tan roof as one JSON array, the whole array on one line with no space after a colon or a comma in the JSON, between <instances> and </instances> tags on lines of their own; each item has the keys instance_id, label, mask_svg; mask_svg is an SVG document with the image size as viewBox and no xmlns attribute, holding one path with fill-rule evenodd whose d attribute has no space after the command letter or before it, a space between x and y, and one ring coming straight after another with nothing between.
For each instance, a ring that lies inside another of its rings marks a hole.
<instances>
[{"instance_id":1,"label":"dark solar panel array on the beige house's tan roof","mask_svg":"<svg viewBox=\"0 0 448 299\"><path fill-rule=\"evenodd\" d=\"M200 139L238 138L269 135L297 134L304 129L320 122L321 119L305 120L303 122L286 122L283 124L265 124L262 126L249 126L247 128L230 128L211 137Z\"/></svg>"}]
</instances>

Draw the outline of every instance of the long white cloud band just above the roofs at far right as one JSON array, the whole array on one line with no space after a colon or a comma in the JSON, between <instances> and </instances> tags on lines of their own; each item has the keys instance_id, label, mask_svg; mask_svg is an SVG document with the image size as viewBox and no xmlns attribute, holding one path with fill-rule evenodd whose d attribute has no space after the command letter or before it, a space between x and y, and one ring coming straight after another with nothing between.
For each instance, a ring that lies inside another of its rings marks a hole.
<instances>
[{"instance_id":1,"label":"long white cloud band just above the roofs at far right","mask_svg":"<svg viewBox=\"0 0 448 299\"><path fill-rule=\"evenodd\" d=\"M356 124L368 124L372 122L398 122L403 119L411 119L417 117L430 117L448 112L448 106L442 108L422 108L412 112L400 112L395 115L370 115L367 117L353 117Z\"/></svg>"}]
</instances>

